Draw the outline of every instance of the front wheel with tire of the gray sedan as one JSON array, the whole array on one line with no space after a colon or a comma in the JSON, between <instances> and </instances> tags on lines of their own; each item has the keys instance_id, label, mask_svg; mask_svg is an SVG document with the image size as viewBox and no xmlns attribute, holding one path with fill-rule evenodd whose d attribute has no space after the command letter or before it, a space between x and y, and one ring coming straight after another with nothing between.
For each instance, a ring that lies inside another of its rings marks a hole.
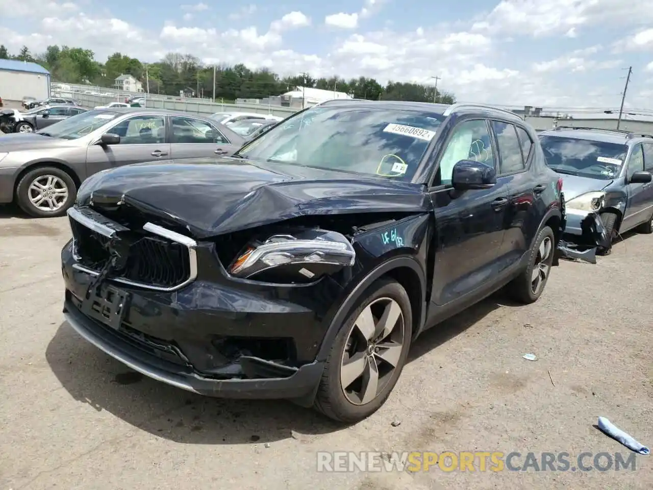
<instances>
[{"instance_id":1,"label":"front wheel with tire of the gray sedan","mask_svg":"<svg viewBox=\"0 0 653 490\"><path fill-rule=\"evenodd\" d=\"M77 189L71 176L56 167L29 171L16 186L18 206L34 218L63 216L76 197Z\"/></svg>"}]
</instances>

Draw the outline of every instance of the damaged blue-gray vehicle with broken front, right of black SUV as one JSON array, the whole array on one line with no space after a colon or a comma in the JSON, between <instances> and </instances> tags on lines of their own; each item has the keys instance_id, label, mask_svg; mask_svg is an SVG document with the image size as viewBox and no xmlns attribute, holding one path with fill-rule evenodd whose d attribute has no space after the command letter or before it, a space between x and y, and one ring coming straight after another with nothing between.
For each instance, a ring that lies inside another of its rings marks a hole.
<instances>
[{"instance_id":1,"label":"damaged blue-gray vehicle with broken front, right of black SUV","mask_svg":"<svg viewBox=\"0 0 653 490\"><path fill-rule=\"evenodd\" d=\"M597 248L600 255L611 252L620 233L653 233L653 136L568 126L538 136L547 165L564 178L565 240L594 246L582 229L592 215L607 235Z\"/></svg>"}]
</instances>

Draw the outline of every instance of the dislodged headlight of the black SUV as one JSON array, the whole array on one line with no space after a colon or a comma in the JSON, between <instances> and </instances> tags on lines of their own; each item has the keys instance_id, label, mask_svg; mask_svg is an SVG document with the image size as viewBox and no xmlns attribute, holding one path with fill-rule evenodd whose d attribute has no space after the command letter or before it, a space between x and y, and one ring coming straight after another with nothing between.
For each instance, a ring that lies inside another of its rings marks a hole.
<instances>
[{"instance_id":1,"label":"dislodged headlight of the black SUV","mask_svg":"<svg viewBox=\"0 0 653 490\"><path fill-rule=\"evenodd\" d=\"M229 267L232 276L268 282L307 282L351 267L356 252L336 231L300 230L252 240Z\"/></svg>"}]
</instances>

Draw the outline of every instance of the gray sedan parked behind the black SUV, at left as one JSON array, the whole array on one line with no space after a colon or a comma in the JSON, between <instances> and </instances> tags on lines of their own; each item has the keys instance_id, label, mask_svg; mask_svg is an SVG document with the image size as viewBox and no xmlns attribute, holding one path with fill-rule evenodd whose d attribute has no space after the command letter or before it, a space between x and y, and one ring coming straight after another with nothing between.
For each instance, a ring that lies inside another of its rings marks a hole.
<instances>
[{"instance_id":1,"label":"gray sedan parked behind the black SUV, at left","mask_svg":"<svg viewBox=\"0 0 653 490\"><path fill-rule=\"evenodd\" d=\"M63 216L80 184L121 165L231 155L244 139L206 118L157 109L88 110L36 133L0 139L0 204Z\"/></svg>"}]
</instances>

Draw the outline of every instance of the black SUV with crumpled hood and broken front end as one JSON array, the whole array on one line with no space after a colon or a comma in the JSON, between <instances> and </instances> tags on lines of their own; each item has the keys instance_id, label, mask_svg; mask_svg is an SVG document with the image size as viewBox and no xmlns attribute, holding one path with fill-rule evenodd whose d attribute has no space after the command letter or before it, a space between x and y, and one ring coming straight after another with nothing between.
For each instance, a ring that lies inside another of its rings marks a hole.
<instances>
[{"instance_id":1,"label":"black SUV with crumpled hood and broken front end","mask_svg":"<svg viewBox=\"0 0 653 490\"><path fill-rule=\"evenodd\" d=\"M511 112L330 101L233 157L89 177L61 253L65 317L165 383L356 421L425 329L504 286L539 298L561 191Z\"/></svg>"}]
</instances>

